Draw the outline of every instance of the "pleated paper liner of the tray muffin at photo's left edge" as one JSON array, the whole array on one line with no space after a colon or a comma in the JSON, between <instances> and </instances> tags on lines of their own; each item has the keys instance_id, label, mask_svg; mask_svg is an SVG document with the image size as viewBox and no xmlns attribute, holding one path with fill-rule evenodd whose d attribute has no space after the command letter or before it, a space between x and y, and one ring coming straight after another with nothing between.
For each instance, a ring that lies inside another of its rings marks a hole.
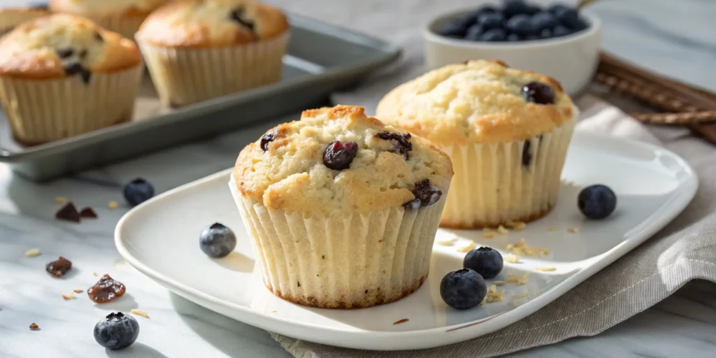
<instances>
[{"instance_id":1,"label":"pleated paper liner of the tray muffin at photo's left edge","mask_svg":"<svg viewBox=\"0 0 716 358\"><path fill-rule=\"evenodd\" d=\"M13 137L24 145L52 142L132 119L143 65L61 79L0 76L0 102Z\"/></svg>"}]
</instances>

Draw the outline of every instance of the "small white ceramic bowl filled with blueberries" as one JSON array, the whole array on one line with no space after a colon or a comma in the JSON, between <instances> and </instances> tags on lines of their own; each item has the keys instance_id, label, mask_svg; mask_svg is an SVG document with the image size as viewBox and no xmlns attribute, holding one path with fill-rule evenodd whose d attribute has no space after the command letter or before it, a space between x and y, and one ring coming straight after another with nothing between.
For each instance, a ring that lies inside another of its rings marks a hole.
<instances>
[{"instance_id":1,"label":"small white ceramic bowl filled with blueberries","mask_svg":"<svg viewBox=\"0 0 716 358\"><path fill-rule=\"evenodd\" d=\"M470 10L438 16L423 30L427 69L456 64L467 59L499 59L510 67L547 74L557 79L565 92L576 95L594 76L599 64L601 21L582 14L589 28L565 37L524 42L472 42L437 34L450 19Z\"/></svg>"}]
</instances>

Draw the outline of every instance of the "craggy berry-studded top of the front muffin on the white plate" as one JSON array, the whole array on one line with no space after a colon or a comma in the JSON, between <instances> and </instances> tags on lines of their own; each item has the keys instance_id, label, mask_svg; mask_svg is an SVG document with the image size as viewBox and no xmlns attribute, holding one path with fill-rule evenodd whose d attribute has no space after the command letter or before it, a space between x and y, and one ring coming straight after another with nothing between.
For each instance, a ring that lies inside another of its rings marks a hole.
<instances>
[{"instance_id":1,"label":"craggy berry-studded top of the front muffin on the white plate","mask_svg":"<svg viewBox=\"0 0 716 358\"><path fill-rule=\"evenodd\" d=\"M332 157L340 147L354 147L354 156ZM401 208L420 198L420 186L447 195L452 176L450 158L430 142L354 106L304 111L246 146L233 170L244 198L305 215Z\"/></svg>"}]
</instances>

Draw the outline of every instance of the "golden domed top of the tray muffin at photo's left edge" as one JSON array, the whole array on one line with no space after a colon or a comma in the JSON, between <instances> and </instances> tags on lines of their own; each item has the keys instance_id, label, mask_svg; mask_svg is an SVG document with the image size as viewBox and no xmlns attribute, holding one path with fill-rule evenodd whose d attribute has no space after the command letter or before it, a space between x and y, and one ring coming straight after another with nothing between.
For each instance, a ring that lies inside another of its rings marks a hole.
<instances>
[{"instance_id":1,"label":"golden domed top of the tray muffin at photo's left edge","mask_svg":"<svg viewBox=\"0 0 716 358\"><path fill-rule=\"evenodd\" d=\"M115 72L141 63L137 45L79 16L55 14L0 39L0 75L29 79Z\"/></svg>"}]
</instances>

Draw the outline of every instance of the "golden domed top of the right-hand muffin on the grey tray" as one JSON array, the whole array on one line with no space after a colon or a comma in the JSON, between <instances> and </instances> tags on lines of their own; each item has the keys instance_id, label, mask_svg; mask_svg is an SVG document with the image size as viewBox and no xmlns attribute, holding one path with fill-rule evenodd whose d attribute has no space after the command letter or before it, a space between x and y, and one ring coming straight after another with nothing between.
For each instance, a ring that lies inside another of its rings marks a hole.
<instances>
[{"instance_id":1,"label":"golden domed top of the right-hand muffin on the grey tray","mask_svg":"<svg viewBox=\"0 0 716 358\"><path fill-rule=\"evenodd\" d=\"M163 47L222 47L271 39L289 22L280 9L251 0L181 0L154 11L137 39Z\"/></svg>"}]
</instances>

